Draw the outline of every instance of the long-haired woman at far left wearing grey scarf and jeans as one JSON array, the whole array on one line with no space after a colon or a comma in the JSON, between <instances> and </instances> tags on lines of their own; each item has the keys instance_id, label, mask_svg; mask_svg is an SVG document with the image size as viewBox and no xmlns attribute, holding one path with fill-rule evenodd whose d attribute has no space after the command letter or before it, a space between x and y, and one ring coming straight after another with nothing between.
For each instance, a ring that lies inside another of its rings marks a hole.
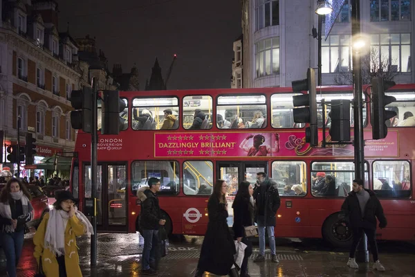
<instances>
[{"instance_id":1,"label":"long-haired woman at far left wearing grey scarf and jeans","mask_svg":"<svg viewBox=\"0 0 415 277\"><path fill-rule=\"evenodd\" d=\"M26 222L32 220L31 195L18 179L10 179L0 194L0 238L7 260L9 277L16 277L16 267L23 249Z\"/></svg>"}]
</instances>

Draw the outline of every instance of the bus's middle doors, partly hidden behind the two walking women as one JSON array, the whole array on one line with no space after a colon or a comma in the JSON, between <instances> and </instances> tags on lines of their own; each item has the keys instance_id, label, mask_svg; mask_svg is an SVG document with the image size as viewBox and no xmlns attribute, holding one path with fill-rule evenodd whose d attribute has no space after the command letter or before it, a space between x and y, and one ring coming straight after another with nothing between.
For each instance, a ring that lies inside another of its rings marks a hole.
<instances>
[{"instance_id":1,"label":"bus's middle doors, partly hidden behind the two walking women","mask_svg":"<svg viewBox=\"0 0 415 277\"><path fill-rule=\"evenodd\" d=\"M228 183L228 225L233 224L232 203L237 195L238 185L241 181L249 181L255 186L258 172L268 171L268 163L266 161L235 161L235 162L219 162L217 163L217 174L219 179L223 179Z\"/></svg>"}]
</instances>

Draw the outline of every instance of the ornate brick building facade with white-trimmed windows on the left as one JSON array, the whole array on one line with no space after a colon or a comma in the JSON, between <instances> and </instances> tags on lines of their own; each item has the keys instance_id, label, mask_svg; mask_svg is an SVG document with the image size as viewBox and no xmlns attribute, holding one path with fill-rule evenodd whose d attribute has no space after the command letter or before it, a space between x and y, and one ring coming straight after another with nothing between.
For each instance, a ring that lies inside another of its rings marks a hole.
<instances>
[{"instance_id":1,"label":"ornate brick building facade with white-trimmed windows on the left","mask_svg":"<svg viewBox=\"0 0 415 277\"><path fill-rule=\"evenodd\" d=\"M5 143L17 144L19 128L21 145L28 132L37 140L35 163L71 152L75 131L68 99L82 77L77 44L68 32L58 33L55 1L0 3L0 129ZM2 151L7 163L6 148Z\"/></svg>"}]
</instances>

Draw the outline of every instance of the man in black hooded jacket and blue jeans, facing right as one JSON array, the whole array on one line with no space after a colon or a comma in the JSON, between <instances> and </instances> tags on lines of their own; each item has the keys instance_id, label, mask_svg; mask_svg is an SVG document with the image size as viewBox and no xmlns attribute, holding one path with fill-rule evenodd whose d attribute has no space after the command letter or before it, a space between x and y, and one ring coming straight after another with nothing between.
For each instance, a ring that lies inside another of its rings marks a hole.
<instances>
[{"instance_id":1,"label":"man in black hooded jacket and blue jeans, facing right","mask_svg":"<svg viewBox=\"0 0 415 277\"><path fill-rule=\"evenodd\" d=\"M157 271L150 265L156 264L156 249L158 244L158 227L165 224L160 215L160 206L156 193L160 190L160 180L150 178L149 186L143 186L137 191L137 197L141 201L140 228L144 238L142 249L142 274L156 275Z\"/></svg>"}]
</instances>

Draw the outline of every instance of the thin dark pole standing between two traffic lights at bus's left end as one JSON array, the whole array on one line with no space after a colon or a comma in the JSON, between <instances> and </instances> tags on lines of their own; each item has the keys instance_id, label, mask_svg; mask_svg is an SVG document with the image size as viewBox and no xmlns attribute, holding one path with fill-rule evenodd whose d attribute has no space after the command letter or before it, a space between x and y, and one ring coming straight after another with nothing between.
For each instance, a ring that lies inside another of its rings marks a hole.
<instances>
[{"instance_id":1,"label":"thin dark pole standing between two traffic lights at bus's left end","mask_svg":"<svg viewBox=\"0 0 415 277\"><path fill-rule=\"evenodd\" d=\"M91 235L91 265L97 265L97 141L98 141L98 90L95 78L92 81L92 132L91 132L91 197L93 201L92 227Z\"/></svg>"}]
</instances>

